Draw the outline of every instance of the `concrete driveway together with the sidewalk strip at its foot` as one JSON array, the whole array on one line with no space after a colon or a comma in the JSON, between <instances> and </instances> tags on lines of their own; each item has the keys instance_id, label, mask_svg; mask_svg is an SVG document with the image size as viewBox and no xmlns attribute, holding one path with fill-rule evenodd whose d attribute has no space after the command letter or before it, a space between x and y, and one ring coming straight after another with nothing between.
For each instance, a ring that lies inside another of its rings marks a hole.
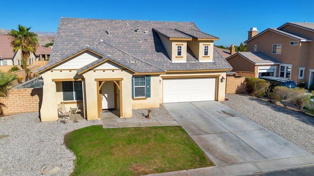
<instances>
[{"instance_id":1,"label":"concrete driveway together with the sidewalk strip at its foot","mask_svg":"<svg viewBox=\"0 0 314 176\"><path fill-rule=\"evenodd\" d=\"M216 164L189 175L240 175L314 164L314 155L217 101L164 104Z\"/></svg>"}]
</instances>

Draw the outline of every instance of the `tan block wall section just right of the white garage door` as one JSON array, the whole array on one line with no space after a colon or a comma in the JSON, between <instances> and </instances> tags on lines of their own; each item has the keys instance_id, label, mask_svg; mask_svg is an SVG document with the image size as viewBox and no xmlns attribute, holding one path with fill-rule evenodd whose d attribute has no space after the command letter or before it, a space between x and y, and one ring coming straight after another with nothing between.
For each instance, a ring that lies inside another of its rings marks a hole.
<instances>
[{"instance_id":1,"label":"tan block wall section just right of the white garage door","mask_svg":"<svg viewBox=\"0 0 314 176\"><path fill-rule=\"evenodd\" d=\"M245 81L244 77L227 76L226 93L234 94L245 92L244 81Z\"/></svg>"}]
</instances>

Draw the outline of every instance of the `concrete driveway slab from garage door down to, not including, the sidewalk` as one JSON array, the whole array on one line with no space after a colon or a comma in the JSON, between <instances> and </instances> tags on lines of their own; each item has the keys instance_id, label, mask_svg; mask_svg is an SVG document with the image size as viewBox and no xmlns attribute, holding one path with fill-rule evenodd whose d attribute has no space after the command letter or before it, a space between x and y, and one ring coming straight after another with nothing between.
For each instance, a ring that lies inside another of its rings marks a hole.
<instances>
[{"instance_id":1,"label":"concrete driveway slab from garage door down to, not including, the sidewalk","mask_svg":"<svg viewBox=\"0 0 314 176\"><path fill-rule=\"evenodd\" d=\"M164 106L217 166L310 155L217 101Z\"/></svg>"}]
</instances>

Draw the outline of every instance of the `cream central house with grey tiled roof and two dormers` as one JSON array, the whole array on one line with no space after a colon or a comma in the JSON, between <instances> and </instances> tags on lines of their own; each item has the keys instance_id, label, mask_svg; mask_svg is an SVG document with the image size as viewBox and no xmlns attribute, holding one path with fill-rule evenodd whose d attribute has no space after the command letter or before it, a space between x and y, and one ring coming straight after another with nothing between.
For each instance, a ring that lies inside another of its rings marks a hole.
<instances>
[{"instance_id":1,"label":"cream central house with grey tiled roof and two dormers","mask_svg":"<svg viewBox=\"0 0 314 176\"><path fill-rule=\"evenodd\" d=\"M108 109L127 118L161 103L223 101L232 67L216 40L193 22L61 18L49 64L35 71L41 120L57 120L59 103L92 120Z\"/></svg>"}]
</instances>

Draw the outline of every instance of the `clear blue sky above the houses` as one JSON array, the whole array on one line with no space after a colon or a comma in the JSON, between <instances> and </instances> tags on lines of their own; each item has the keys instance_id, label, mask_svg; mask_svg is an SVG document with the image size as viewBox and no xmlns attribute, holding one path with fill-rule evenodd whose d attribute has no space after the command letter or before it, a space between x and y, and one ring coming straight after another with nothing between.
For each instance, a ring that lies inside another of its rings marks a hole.
<instances>
[{"instance_id":1,"label":"clear blue sky above the houses","mask_svg":"<svg viewBox=\"0 0 314 176\"><path fill-rule=\"evenodd\" d=\"M14 4L14 5L13 5ZM1 0L0 28L56 32L61 17L195 22L239 45L250 27L260 32L286 22L314 22L314 0Z\"/></svg>"}]
</instances>

